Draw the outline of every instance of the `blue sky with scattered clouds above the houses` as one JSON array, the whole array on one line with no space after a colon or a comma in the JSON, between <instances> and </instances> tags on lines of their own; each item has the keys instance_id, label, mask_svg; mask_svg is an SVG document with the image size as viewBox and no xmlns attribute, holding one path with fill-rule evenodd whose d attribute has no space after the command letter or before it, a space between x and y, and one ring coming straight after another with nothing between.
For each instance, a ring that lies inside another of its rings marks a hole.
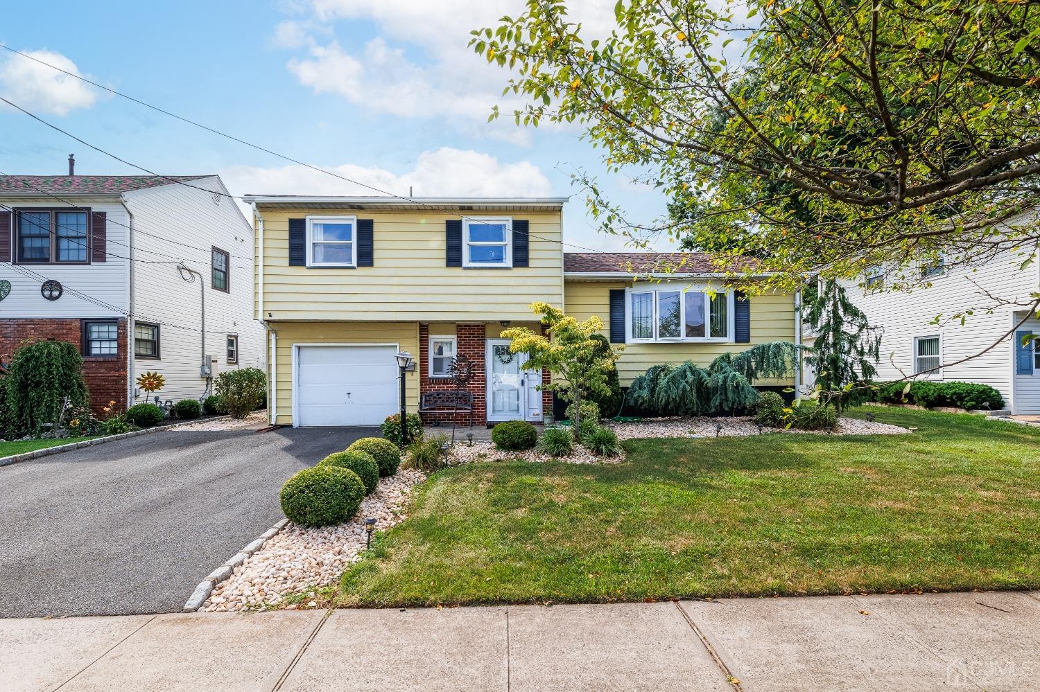
<instances>
[{"instance_id":1,"label":"blue sky with scattered clouds above the houses","mask_svg":"<svg viewBox=\"0 0 1040 692\"><path fill-rule=\"evenodd\" d=\"M18 3L0 43L267 149L395 194L573 195L566 239L622 249L586 216L569 172L599 174L577 129L489 124L509 75L466 46L469 31L522 0ZM613 1L572 15L606 31ZM25 58L0 55L0 94L122 158L164 174L220 174L231 191L367 194L331 176L178 123ZM138 172L0 104L0 170ZM665 201L600 176L612 198L650 220ZM667 245L667 243L664 243ZM660 245L660 243L658 243ZM575 249L571 247L569 249ZM657 246L656 249L667 249Z\"/></svg>"}]
</instances>

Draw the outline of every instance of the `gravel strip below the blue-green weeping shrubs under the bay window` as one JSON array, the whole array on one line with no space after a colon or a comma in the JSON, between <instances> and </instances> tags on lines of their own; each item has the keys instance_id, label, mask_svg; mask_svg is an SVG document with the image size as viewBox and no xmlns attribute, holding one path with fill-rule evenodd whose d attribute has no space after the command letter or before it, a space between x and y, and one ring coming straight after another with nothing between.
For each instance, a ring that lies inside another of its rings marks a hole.
<instances>
[{"instance_id":1,"label":"gravel strip below the blue-green weeping shrubs under the bay window","mask_svg":"<svg viewBox=\"0 0 1040 692\"><path fill-rule=\"evenodd\" d=\"M690 437L697 435L701 437L736 437L746 435L757 435L758 426L749 417L735 418L647 418L642 423L609 423L610 428L618 433L619 440L633 440L638 437ZM718 426L722 425L719 430ZM794 430L784 428L763 428L762 432L787 432L787 433L823 433L823 430ZM841 418L838 420L838 428L831 434L838 435L895 435L910 432L906 428L885 423L870 423L856 418Z\"/></svg>"}]
</instances>

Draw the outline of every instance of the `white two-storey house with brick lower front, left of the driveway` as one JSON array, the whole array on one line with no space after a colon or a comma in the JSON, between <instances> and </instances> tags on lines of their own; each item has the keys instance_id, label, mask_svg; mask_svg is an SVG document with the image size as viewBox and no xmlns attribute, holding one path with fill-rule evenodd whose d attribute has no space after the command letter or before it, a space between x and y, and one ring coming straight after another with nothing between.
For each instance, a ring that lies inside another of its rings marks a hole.
<instances>
[{"instance_id":1,"label":"white two-storey house with brick lower front, left of the driveway","mask_svg":"<svg viewBox=\"0 0 1040 692\"><path fill-rule=\"evenodd\" d=\"M36 339L76 344L95 409L144 401L147 370L178 401L266 365L253 229L216 176L77 176L70 162L69 176L0 177L4 293L0 357Z\"/></svg>"}]
</instances>

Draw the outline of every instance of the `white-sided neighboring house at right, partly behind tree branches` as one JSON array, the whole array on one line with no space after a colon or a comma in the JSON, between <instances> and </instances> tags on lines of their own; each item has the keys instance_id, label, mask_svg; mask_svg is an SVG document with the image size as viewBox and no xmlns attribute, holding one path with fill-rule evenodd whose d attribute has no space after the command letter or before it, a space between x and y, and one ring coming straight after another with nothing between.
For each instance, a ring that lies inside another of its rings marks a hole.
<instances>
[{"instance_id":1,"label":"white-sided neighboring house at right, partly behind tree branches","mask_svg":"<svg viewBox=\"0 0 1040 692\"><path fill-rule=\"evenodd\" d=\"M1026 257L1006 251L977 266L920 266L916 270L931 286L911 292L881 290L889 277L880 269L868 270L863 285L847 286L870 324L882 330L878 379L917 374L920 379L989 384L1013 414L1040 414L1040 340L1021 343L1026 335L1040 335L1040 320L1035 315L1025 319L1029 311L1022 307L1040 292L1040 262L1023 267ZM994 307L987 293L1020 304ZM950 319L972 309L963 324ZM969 356L974 357L952 365Z\"/></svg>"}]
</instances>

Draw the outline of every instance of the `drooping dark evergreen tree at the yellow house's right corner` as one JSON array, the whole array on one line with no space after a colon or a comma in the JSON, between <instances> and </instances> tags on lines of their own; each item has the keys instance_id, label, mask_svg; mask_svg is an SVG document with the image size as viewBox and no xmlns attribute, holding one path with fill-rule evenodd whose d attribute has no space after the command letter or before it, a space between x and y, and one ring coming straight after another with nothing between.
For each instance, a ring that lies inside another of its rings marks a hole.
<instances>
[{"instance_id":1,"label":"drooping dark evergreen tree at the yellow house's right corner","mask_svg":"<svg viewBox=\"0 0 1040 692\"><path fill-rule=\"evenodd\" d=\"M816 371L821 403L833 403L840 414L856 383L878 374L881 334L833 278L807 304L805 321L816 335L805 362Z\"/></svg>"}]
</instances>

